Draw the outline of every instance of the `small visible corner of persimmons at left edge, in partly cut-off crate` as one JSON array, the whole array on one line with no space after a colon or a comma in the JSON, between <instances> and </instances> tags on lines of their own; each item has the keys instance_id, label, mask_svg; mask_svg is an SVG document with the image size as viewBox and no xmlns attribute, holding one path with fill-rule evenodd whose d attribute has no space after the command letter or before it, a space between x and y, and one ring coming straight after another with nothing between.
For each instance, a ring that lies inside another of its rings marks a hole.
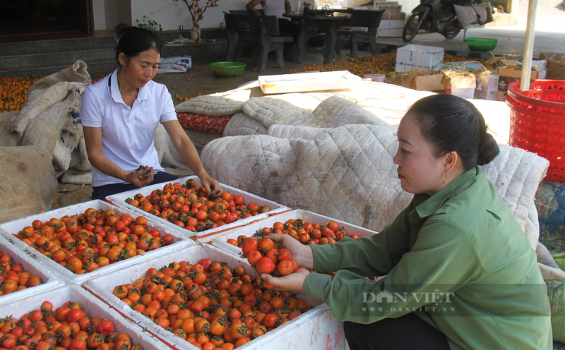
<instances>
[{"instance_id":1,"label":"small visible corner of persimmons at left edge, in partly cut-off crate","mask_svg":"<svg viewBox=\"0 0 565 350\"><path fill-rule=\"evenodd\" d=\"M16 264L10 255L0 252L0 296L40 284L40 277L32 276L31 272L23 270L22 265Z\"/></svg>"}]
</instances>

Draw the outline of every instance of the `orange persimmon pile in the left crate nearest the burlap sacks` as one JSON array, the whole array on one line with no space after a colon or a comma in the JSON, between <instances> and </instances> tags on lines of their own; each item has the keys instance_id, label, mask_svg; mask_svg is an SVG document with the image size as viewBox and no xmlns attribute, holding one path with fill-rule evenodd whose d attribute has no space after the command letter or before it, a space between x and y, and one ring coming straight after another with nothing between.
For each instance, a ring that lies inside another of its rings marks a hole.
<instances>
[{"instance_id":1,"label":"orange persimmon pile in the left crate nearest the burlap sacks","mask_svg":"<svg viewBox=\"0 0 565 350\"><path fill-rule=\"evenodd\" d=\"M93 208L81 215L66 215L48 222L34 220L14 236L76 274L92 272L173 242L170 234L161 237L159 230L148 230L145 217L120 217L112 209Z\"/></svg>"}]
</instances>

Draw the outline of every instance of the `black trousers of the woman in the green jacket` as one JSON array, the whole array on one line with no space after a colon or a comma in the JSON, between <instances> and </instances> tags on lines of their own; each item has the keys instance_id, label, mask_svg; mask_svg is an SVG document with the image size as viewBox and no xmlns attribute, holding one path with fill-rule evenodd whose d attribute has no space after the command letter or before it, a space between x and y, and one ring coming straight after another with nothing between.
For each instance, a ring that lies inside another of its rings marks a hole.
<instances>
[{"instance_id":1,"label":"black trousers of the woman in the green jacket","mask_svg":"<svg viewBox=\"0 0 565 350\"><path fill-rule=\"evenodd\" d=\"M343 330L351 350L450 349L444 333L412 313L399 318L385 318L369 325L345 322Z\"/></svg>"}]
</instances>

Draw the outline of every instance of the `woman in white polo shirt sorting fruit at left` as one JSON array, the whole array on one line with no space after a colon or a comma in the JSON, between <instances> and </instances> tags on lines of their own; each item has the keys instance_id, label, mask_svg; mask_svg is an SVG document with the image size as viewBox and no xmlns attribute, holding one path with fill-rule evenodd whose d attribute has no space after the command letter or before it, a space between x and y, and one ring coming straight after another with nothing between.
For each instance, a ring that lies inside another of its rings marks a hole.
<instances>
[{"instance_id":1,"label":"woman in white polo shirt sorting fruit at left","mask_svg":"<svg viewBox=\"0 0 565 350\"><path fill-rule=\"evenodd\" d=\"M184 133L167 87L153 77L162 44L150 30L118 25L116 55L119 68L83 94L81 121L88 159L93 164L93 199L153 183L173 181L159 164L153 137L165 126L184 162L210 195L222 189L204 169L196 147ZM151 168L143 178L140 165Z\"/></svg>"}]
</instances>

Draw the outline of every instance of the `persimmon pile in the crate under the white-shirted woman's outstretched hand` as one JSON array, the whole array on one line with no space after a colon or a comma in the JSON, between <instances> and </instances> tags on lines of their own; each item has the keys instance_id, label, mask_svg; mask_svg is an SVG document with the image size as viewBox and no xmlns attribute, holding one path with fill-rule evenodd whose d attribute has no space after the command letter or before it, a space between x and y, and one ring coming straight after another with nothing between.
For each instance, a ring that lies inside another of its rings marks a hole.
<instances>
[{"instance_id":1,"label":"persimmon pile in the crate under the white-shirted woman's outstretched hand","mask_svg":"<svg viewBox=\"0 0 565 350\"><path fill-rule=\"evenodd\" d=\"M156 189L147 197L138 193L127 198L126 203L194 232L215 229L270 211L266 205L245 204L242 195L229 192L211 199L205 188L196 186L194 179L188 179L184 185L167 183L162 190Z\"/></svg>"}]
</instances>

